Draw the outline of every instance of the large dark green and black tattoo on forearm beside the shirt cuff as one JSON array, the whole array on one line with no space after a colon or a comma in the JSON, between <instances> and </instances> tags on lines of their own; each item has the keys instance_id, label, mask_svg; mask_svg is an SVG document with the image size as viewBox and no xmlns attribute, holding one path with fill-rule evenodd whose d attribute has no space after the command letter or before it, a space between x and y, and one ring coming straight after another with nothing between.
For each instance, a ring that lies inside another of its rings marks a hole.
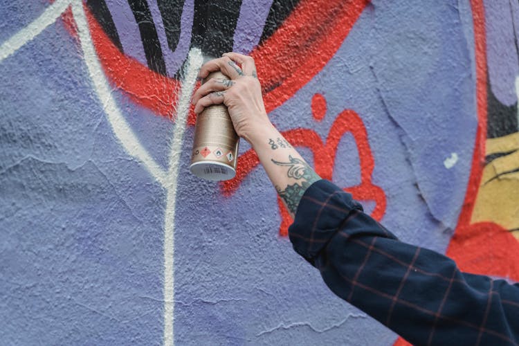
<instances>
[{"instance_id":1,"label":"large dark green and black tattoo on forearm beside the shirt cuff","mask_svg":"<svg viewBox=\"0 0 519 346\"><path fill-rule=\"evenodd\" d=\"M286 176L297 180L292 185L286 185L286 188L282 190L279 185L276 185L277 193L286 203L286 207L289 211L295 214L298 209L299 202L310 185L320 179L320 176L304 161L299 158L293 158L289 155L289 162L280 162L271 159L275 165L289 167L289 171L286 172Z\"/></svg>"}]
</instances>

